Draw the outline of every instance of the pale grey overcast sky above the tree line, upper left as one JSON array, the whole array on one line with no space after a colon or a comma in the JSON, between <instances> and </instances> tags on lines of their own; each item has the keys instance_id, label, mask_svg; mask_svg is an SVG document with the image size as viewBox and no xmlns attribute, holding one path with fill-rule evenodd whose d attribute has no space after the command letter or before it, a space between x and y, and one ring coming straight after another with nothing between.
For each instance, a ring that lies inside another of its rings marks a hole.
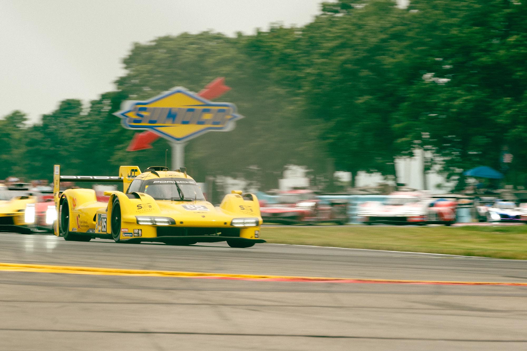
<instances>
[{"instance_id":1,"label":"pale grey overcast sky above the tree line, upper left","mask_svg":"<svg viewBox=\"0 0 527 351\"><path fill-rule=\"evenodd\" d=\"M114 90L134 42L304 25L321 1L0 0L0 118L22 110L36 121L61 100L87 103Z\"/></svg>"}]
</instances>

